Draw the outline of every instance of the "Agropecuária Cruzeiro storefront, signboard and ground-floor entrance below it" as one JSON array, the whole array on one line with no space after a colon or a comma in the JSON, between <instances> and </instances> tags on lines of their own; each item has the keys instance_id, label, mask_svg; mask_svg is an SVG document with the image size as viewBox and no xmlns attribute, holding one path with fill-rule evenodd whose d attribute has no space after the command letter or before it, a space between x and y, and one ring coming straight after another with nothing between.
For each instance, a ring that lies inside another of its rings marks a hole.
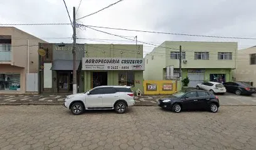
<instances>
[{"instance_id":1,"label":"Agropecu\u00e1ria Cruzeiro storefront, signboard and ground-floor entrance below it","mask_svg":"<svg viewBox=\"0 0 256 150\"><path fill-rule=\"evenodd\" d=\"M132 86L143 91L143 58L83 58L85 91L97 86Z\"/></svg>"}]
</instances>

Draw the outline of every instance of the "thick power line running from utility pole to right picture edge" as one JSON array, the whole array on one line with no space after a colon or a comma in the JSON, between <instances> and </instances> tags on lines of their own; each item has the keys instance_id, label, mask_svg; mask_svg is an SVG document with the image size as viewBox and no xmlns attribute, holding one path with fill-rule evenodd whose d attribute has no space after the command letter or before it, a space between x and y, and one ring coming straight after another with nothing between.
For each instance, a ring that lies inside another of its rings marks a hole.
<instances>
[{"instance_id":1,"label":"thick power line running from utility pole to right picture edge","mask_svg":"<svg viewBox=\"0 0 256 150\"><path fill-rule=\"evenodd\" d=\"M80 25L83 25L83 24L80 24ZM178 35L178 36L215 37L215 38L225 38L225 39L253 39L253 40L256 39L254 37L206 36L206 35L198 35L198 34L181 34L181 33L173 33L173 32L144 31L144 30L137 30L137 29L122 29L122 28L103 27L103 26L90 26L90 25L83 25L83 26L97 27L97 28L104 28L104 29L115 29L115 30L123 30L123 31L149 32L149 33L156 33L156 34L171 34L171 35Z\"/></svg>"}]
</instances>

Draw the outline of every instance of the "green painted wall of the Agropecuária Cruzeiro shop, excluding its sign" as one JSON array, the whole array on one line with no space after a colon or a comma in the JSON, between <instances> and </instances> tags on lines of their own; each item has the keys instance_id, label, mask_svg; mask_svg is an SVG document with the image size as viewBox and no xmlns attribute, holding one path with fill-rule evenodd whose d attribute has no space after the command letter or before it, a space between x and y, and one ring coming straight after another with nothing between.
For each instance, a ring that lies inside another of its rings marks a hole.
<instances>
[{"instance_id":1,"label":"green painted wall of the Agropecu\u00e1ria Cruzeiro shop, excluding its sign","mask_svg":"<svg viewBox=\"0 0 256 150\"><path fill-rule=\"evenodd\" d=\"M141 44L85 44L86 58L143 58L143 45ZM107 84L119 84L119 71L107 71ZM84 71L84 90L88 91L91 87L92 71ZM140 84L134 83L132 90L138 88L143 92L143 71L134 71L134 78Z\"/></svg>"}]
</instances>

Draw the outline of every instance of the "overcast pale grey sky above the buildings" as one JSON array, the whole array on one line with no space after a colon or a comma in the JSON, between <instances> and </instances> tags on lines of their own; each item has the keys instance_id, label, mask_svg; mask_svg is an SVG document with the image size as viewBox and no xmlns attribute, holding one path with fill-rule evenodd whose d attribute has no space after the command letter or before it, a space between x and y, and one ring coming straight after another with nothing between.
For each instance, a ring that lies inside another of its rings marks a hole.
<instances>
[{"instance_id":1,"label":"overcast pale grey sky above the buildings","mask_svg":"<svg viewBox=\"0 0 256 150\"><path fill-rule=\"evenodd\" d=\"M70 17L73 6L80 0L65 0ZM117 0L82 0L76 17L82 17L116 2ZM124 0L78 23L95 26L120 27L183 34L209 36L256 37L255 0ZM8 0L0 1L0 23L68 23L68 14L62 0ZM16 26L29 34L45 37L72 37L71 25ZM256 40L222 39L210 37L173 36L142 32L102 31L127 36L138 41L161 44L164 41L237 41L238 48L256 45ZM78 43L135 44L120 37L92 29L77 29L77 37L108 39L92 41L78 39ZM117 40L117 41L110 41ZM48 42L72 42L72 39L45 39ZM144 54L153 47L144 44Z\"/></svg>"}]
</instances>

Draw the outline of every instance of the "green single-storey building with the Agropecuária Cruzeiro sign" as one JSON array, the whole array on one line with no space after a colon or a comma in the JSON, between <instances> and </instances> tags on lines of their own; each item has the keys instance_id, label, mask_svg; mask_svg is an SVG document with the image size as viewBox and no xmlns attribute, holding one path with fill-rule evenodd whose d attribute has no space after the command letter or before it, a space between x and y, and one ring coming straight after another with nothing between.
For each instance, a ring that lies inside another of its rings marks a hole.
<instances>
[{"instance_id":1,"label":"green single-storey building with the Agropecu\u00e1ria Cruzeiro sign","mask_svg":"<svg viewBox=\"0 0 256 150\"><path fill-rule=\"evenodd\" d=\"M82 59L84 91L96 86L132 86L143 93L143 45L85 44Z\"/></svg>"}]
</instances>

